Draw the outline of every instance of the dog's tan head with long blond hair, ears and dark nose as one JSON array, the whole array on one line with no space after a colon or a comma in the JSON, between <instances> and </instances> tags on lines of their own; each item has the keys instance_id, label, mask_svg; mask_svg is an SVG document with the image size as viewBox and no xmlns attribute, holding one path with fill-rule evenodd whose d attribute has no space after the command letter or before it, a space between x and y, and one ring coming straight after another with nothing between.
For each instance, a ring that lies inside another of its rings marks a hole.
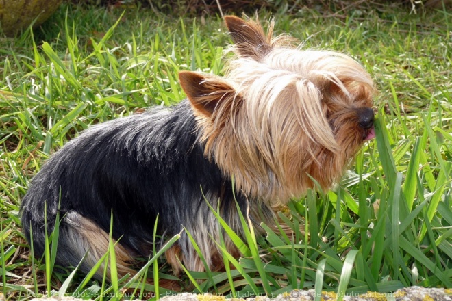
<instances>
[{"instance_id":1,"label":"dog's tan head with long blond hair, ears and dark nose","mask_svg":"<svg viewBox=\"0 0 452 301\"><path fill-rule=\"evenodd\" d=\"M375 136L373 81L351 57L301 50L258 22L225 17L234 45L224 78L179 75L205 153L245 193L286 201L328 188ZM312 177L312 179L311 179Z\"/></svg>"}]
</instances>

